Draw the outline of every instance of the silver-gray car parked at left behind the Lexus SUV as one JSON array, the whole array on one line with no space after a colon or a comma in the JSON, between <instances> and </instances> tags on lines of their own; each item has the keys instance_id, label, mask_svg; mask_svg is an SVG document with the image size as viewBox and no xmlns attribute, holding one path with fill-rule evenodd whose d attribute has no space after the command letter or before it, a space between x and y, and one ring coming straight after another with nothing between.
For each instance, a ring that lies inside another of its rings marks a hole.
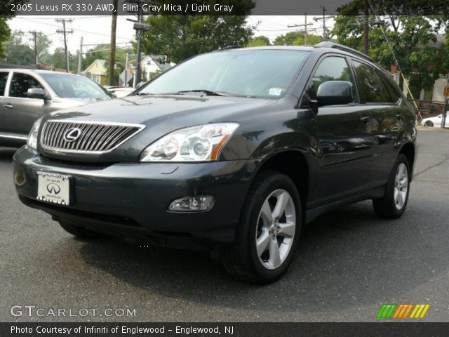
<instances>
[{"instance_id":1,"label":"silver-gray car parked at left behind the Lexus SUV","mask_svg":"<svg viewBox=\"0 0 449 337\"><path fill-rule=\"evenodd\" d=\"M0 146L27 143L44 114L113 96L94 81L65 72L0 69Z\"/></svg>"}]
</instances>

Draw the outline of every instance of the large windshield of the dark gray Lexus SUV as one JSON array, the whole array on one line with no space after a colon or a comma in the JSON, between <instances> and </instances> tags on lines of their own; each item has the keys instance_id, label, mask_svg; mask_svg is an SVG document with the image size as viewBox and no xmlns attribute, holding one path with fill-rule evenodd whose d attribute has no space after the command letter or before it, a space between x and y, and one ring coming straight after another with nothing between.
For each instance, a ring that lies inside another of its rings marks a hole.
<instances>
[{"instance_id":1,"label":"large windshield of the dark gray Lexus SUV","mask_svg":"<svg viewBox=\"0 0 449 337\"><path fill-rule=\"evenodd\" d=\"M307 55L307 51L269 49L199 55L157 77L138 94L209 91L279 98L286 93Z\"/></svg>"}]
</instances>

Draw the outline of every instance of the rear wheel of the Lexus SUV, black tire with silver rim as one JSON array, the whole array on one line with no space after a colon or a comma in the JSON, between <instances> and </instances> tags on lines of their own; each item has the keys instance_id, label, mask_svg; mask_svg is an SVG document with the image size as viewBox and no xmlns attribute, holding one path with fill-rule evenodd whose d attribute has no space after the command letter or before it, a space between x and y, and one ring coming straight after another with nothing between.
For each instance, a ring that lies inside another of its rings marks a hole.
<instances>
[{"instance_id":1,"label":"rear wheel of the Lexus SUV, black tire with silver rim","mask_svg":"<svg viewBox=\"0 0 449 337\"><path fill-rule=\"evenodd\" d=\"M401 218L406 211L409 193L410 164L404 154L399 154L391 169L384 197L373 199L375 212L386 219Z\"/></svg>"}]
</instances>

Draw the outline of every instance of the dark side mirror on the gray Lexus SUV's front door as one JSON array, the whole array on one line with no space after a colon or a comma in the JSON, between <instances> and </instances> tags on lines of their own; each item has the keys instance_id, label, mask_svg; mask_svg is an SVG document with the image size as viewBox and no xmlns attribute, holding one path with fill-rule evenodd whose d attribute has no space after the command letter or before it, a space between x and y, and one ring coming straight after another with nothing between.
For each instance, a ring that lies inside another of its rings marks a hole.
<instances>
[{"instance_id":1,"label":"dark side mirror on the gray Lexus SUV's front door","mask_svg":"<svg viewBox=\"0 0 449 337\"><path fill-rule=\"evenodd\" d=\"M327 81L318 87L316 101L319 107L344 105L354 100L352 84L348 81Z\"/></svg>"}]
</instances>

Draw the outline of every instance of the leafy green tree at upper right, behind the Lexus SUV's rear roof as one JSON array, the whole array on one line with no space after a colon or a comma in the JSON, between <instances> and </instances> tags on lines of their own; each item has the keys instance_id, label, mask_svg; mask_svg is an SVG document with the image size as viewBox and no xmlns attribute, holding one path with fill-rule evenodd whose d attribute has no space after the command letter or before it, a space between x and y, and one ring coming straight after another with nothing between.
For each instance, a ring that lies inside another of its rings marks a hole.
<instances>
[{"instance_id":1,"label":"leafy green tree at upper right, behind the Lexus SUV's rear roof","mask_svg":"<svg viewBox=\"0 0 449 337\"><path fill-rule=\"evenodd\" d=\"M436 41L436 33L447 26L448 17L433 15L438 9L429 16L411 15L436 2L371 1L375 13L383 15L378 18L371 15L368 19L369 55L387 70L395 64L395 55L403 75L410 79L414 96L419 95L421 88L429 90L443 71L442 55L432 43ZM340 15L331 34L338 43L363 51L363 0L351 1L337 11Z\"/></svg>"}]
</instances>

